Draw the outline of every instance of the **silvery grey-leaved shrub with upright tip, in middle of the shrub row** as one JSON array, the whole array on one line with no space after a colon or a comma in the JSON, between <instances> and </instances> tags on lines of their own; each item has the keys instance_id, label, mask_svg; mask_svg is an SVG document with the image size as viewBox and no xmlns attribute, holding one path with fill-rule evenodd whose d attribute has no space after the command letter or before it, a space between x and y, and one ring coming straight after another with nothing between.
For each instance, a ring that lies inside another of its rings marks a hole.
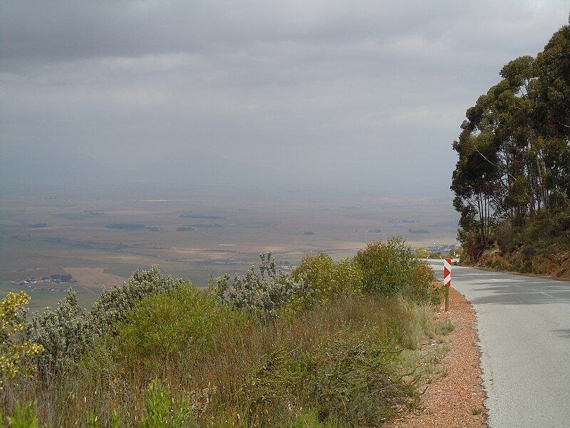
<instances>
[{"instance_id":1,"label":"silvery grey-leaved shrub with upright tip, in middle of the shrub row","mask_svg":"<svg viewBox=\"0 0 570 428\"><path fill-rule=\"evenodd\" d=\"M261 317L272 318L276 310L289 303L291 297L303 292L305 285L277 272L271 253L260 254L259 273L252 266L243 276L236 275L229 284L229 275L217 280L216 295L237 309L247 309Z\"/></svg>"}]
</instances>

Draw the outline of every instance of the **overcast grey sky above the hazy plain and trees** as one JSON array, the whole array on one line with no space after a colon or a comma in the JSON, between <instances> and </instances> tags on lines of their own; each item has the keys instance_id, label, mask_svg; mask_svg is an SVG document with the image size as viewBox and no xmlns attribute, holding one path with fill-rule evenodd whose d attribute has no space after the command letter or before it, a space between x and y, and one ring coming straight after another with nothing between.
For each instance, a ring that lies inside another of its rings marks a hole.
<instances>
[{"instance_id":1,"label":"overcast grey sky above the hazy plain and trees","mask_svg":"<svg viewBox=\"0 0 570 428\"><path fill-rule=\"evenodd\" d=\"M564 1L0 1L0 144L443 183L465 110ZM200 155L202 156L202 155ZM271 178L262 178L270 180Z\"/></svg>"}]
</instances>

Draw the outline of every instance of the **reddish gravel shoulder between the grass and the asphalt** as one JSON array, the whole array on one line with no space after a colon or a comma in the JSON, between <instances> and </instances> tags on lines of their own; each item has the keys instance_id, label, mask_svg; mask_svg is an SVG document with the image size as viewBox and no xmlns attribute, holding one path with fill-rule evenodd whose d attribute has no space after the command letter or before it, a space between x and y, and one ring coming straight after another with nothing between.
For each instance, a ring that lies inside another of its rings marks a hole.
<instances>
[{"instance_id":1,"label":"reddish gravel shoulder between the grass and the asphalt","mask_svg":"<svg viewBox=\"0 0 570 428\"><path fill-rule=\"evenodd\" d=\"M437 316L449 316L455 324L455 330L446 336L449 352L441 362L445 375L433 377L427 385L422 409L403 415L388 427L487 427L475 310L452 288L450 311L440 308Z\"/></svg>"}]
</instances>

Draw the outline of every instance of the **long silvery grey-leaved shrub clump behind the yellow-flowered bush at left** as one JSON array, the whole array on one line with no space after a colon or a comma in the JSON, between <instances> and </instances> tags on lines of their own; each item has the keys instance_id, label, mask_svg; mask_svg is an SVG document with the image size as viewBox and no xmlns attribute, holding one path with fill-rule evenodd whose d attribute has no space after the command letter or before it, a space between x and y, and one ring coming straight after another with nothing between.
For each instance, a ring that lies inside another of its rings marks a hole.
<instances>
[{"instance_id":1,"label":"long silvery grey-leaved shrub clump behind the yellow-flowered bush at left","mask_svg":"<svg viewBox=\"0 0 570 428\"><path fill-rule=\"evenodd\" d=\"M97 337L109 332L115 322L124 321L140 300L151 293L176 290L182 283L162 275L156 265L150 270L136 270L122 286L103 289L86 313L70 288L55 310L46 307L43 312L33 312L24 326L26 339L45 350L38 357L38 368L47 376L76 362Z\"/></svg>"}]
</instances>

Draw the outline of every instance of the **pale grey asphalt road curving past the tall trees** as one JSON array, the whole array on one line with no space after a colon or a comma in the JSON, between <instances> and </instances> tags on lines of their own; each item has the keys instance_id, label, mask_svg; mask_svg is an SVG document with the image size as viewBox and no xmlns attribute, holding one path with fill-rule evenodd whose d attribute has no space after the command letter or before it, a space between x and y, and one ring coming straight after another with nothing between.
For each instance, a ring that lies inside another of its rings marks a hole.
<instances>
[{"instance_id":1,"label":"pale grey asphalt road curving past the tall trees","mask_svg":"<svg viewBox=\"0 0 570 428\"><path fill-rule=\"evenodd\" d=\"M442 260L430 263L441 280ZM477 312L489 426L570 427L570 282L459 266L451 276Z\"/></svg>"}]
</instances>

